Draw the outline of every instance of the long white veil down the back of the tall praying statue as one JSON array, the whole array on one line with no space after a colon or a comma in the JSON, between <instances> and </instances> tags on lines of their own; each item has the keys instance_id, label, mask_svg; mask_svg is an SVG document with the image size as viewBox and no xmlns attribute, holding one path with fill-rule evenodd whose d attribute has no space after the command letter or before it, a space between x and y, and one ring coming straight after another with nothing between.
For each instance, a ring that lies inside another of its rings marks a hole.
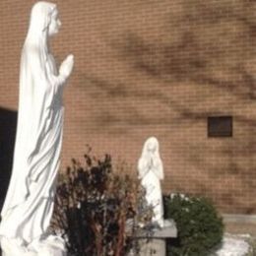
<instances>
[{"instance_id":1,"label":"long white veil down the back of the tall praying statue","mask_svg":"<svg viewBox=\"0 0 256 256\"><path fill-rule=\"evenodd\" d=\"M54 85L47 74L47 37L51 15L56 5L37 2L32 7L30 28L22 50L20 96L12 177L1 216L30 194L33 166L38 158L40 139L50 118ZM23 170L23 173L22 171ZM24 170L28 171L24 173ZM15 192L19 191L19 192Z\"/></svg>"}]
</instances>

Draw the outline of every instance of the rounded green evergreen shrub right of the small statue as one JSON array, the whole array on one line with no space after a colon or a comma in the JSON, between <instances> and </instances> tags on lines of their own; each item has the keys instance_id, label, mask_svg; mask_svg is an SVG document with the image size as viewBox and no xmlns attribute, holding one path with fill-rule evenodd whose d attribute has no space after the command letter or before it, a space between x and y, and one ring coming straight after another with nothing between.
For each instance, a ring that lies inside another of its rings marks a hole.
<instances>
[{"instance_id":1,"label":"rounded green evergreen shrub right of the small statue","mask_svg":"<svg viewBox=\"0 0 256 256\"><path fill-rule=\"evenodd\" d=\"M176 242L167 242L168 256L207 256L222 241L223 220L209 199L164 196L164 215L175 221L178 230Z\"/></svg>"}]
</instances>

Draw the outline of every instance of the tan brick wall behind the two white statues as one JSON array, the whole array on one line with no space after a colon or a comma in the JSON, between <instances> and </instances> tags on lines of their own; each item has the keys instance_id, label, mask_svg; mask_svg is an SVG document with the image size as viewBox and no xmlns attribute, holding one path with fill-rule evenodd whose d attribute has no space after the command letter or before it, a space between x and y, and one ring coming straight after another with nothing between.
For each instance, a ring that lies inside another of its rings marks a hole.
<instances>
[{"instance_id":1,"label":"tan brick wall behind the two white statues","mask_svg":"<svg viewBox=\"0 0 256 256\"><path fill-rule=\"evenodd\" d=\"M0 106L17 109L19 62L34 1L0 3ZM160 140L165 192L210 196L256 214L256 3L242 0L59 0L58 62L75 55L65 92L62 166L96 155L136 164ZM209 115L233 137L208 138ZM1 134L1 136L4 136ZM3 154L3 153L1 153Z\"/></svg>"}]
</instances>

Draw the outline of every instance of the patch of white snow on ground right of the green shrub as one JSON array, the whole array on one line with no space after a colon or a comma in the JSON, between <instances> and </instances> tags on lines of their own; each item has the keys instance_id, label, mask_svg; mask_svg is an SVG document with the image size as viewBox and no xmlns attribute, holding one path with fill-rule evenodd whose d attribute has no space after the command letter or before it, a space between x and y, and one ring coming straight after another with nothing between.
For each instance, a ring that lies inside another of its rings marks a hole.
<instances>
[{"instance_id":1,"label":"patch of white snow on ground right of the green shrub","mask_svg":"<svg viewBox=\"0 0 256 256\"><path fill-rule=\"evenodd\" d=\"M223 245L216 252L217 256L245 256L250 252L250 245L244 239L248 235L224 235Z\"/></svg>"}]
</instances>

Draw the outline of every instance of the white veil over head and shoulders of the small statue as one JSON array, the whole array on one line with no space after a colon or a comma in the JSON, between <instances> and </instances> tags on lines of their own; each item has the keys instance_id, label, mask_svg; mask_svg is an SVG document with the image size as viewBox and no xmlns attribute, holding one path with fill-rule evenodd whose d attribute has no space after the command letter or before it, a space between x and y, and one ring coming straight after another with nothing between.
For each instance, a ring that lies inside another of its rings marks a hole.
<instances>
[{"instance_id":1,"label":"white veil over head and shoulders of the small statue","mask_svg":"<svg viewBox=\"0 0 256 256\"><path fill-rule=\"evenodd\" d=\"M149 153L149 145L153 145L155 148L154 154L152 156L151 153ZM155 174L159 177L159 179L163 179L163 168L162 168L162 162L160 160L160 145L159 141L156 137L150 137L145 143L142 151L142 156L138 162L138 171L139 171L139 177L143 178L144 175L147 173L147 166L149 162L153 162L153 171Z\"/></svg>"}]
</instances>

